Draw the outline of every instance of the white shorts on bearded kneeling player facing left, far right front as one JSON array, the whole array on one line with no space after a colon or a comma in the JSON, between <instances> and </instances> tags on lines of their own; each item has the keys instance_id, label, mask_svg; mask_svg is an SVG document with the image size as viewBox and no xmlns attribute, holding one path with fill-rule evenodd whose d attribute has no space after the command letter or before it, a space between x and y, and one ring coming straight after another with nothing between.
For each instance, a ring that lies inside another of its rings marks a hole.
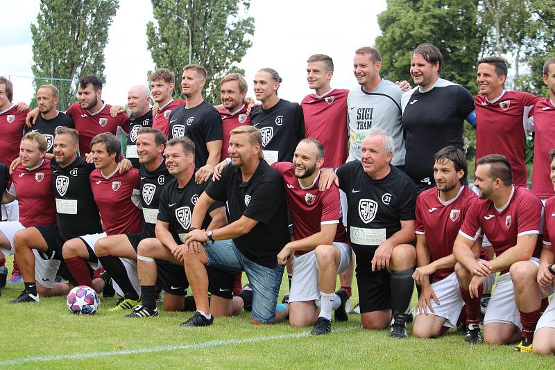
<instances>
[{"instance_id":1,"label":"white shorts on bearded kneeling player facing left, far right front","mask_svg":"<svg viewBox=\"0 0 555 370\"><path fill-rule=\"evenodd\" d=\"M531 261L535 265L540 265L540 260L536 257L532 257L528 261ZM515 301L513 280L509 272L497 278L495 290L493 290L490 303L488 303L486 316L484 317L484 326L494 323L513 324L522 330L520 313L518 312Z\"/></svg>"}]
</instances>

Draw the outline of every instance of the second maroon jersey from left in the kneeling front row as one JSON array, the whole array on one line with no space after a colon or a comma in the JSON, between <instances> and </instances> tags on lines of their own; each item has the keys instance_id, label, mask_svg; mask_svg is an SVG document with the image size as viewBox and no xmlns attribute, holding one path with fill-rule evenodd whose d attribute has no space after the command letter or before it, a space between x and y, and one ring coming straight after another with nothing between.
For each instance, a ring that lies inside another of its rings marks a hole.
<instances>
[{"instance_id":1,"label":"second maroon jersey from left in the kneeling front row","mask_svg":"<svg viewBox=\"0 0 555 370\"><path fill-rule=\"evenodd\" d=\"M94 170L89 178L106 234L141 231L142 211L137 206L140 202L139 170L132 168L122 175L116 169L108 178L100 170Z\"/></svg>"}]
</instances>

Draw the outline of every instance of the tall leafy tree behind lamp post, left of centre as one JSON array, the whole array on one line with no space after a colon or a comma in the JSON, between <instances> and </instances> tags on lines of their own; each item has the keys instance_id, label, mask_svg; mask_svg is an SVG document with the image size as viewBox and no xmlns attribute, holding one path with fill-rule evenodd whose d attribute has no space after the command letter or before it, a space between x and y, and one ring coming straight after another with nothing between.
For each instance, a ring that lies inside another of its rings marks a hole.
<instances>
[{"instance_id":1,"label":"tall leafy tree behind lamp post, left of centre","mask_svg":"<svg viewBox=\"0 0 555 370\"><path fill-rule=\"evenodd\" d=\"M174 98L183 98L180 80L189 61L189 34L176 15L187 20L191 30L191 62L208 71L204 97L219 103L219 81L237 67L252 45L253 17L247 17L248 0L152 0L155 22L146 25L148 51L156 68L176 73Z\"/></svg>"}]
</instances>

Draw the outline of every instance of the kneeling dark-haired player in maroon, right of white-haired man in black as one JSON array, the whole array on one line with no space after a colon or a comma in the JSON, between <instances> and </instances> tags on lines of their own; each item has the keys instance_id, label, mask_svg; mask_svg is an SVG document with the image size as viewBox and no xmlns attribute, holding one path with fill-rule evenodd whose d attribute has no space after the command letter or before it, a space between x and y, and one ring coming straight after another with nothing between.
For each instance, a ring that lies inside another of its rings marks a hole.
<instances>
[{"instance_id":1,"label":"kneeling dark-haired player in maroon, right of white-haired man in black","mask_svg":"<svg viewBox=\"0 0 555 370\"><path fill-rule=\"evenodd\" d=\"M414 281L422 288L413 335L438 337L456 327L466 303L466 342L481 343L480 299L459 290L454 267L453 243L476 194L466 186L466 156L463 150L447 146L434 157L436 187L423 191L416 199L416 261ZM472 244L475 256L481 254L481 237ZM488 258L486 252L481 258ZM486 283L493 283L494 274Z\"/></svg>"}]
</instances>

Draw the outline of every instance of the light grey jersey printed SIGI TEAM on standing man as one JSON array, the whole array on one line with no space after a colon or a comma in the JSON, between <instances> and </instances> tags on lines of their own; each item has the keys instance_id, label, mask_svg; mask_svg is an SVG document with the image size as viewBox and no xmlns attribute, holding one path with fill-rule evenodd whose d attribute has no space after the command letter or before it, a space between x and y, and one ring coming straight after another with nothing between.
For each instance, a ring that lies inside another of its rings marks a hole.
<instances>
[{"instance_id":1,"label":"light grey jersey printed SIGI TEAM on standing man","mask_svg":"<svg viewBox=\"0 0 555 370\"><path fill-rule=\"evenodd\" d=\"M402 90L393 82L384 80L366 92L359 87L349 91L349 161L360 160L362 141L373 128L388 132L393 138L393 166L404 164L404 130L401 122Z\"/></svg>"}]
</instances>

